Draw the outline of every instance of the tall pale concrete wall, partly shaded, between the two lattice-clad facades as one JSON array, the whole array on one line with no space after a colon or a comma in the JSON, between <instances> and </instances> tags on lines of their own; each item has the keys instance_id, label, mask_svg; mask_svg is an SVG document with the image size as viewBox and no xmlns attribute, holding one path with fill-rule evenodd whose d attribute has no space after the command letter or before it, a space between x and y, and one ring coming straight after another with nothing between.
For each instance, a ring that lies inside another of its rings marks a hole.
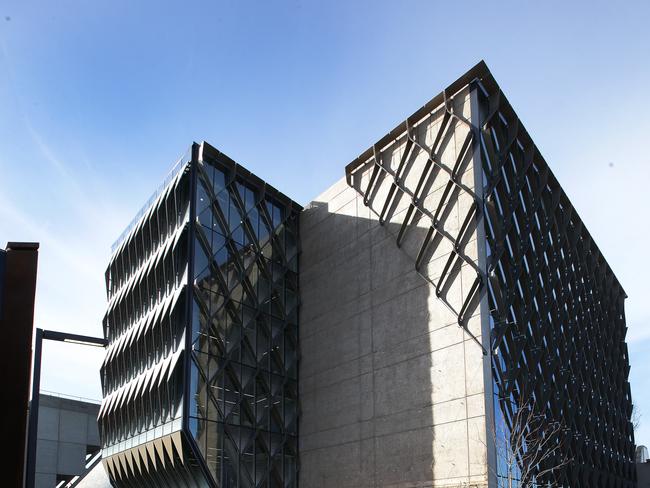
<instances>
[{"instance_id":1,"label":"tall pale concrete wall, partly shaded, between the two lattice-clad facades","mask_svg":"<svg viewBox=\"0 0 650 488\"><path fill-rule=\"evenodd\" d=\"M456 103L469 116L467 94ZM415 128L423 143L432 143L441 117L438 111ZM466 130L459 125L444 141L448 164ZM396 167L403 148L402 139L381 157ZM423 154L414 157L407 179L415 181L425 163ZM464 171L473 187L471 160ZM428 205L437 205L446 181L436 178ZM384 183L369 208L341 180L301 216L300 486L485 486L487 359L415 271L425 219L411 226L402 248L395 235L408 202L398 202L379 225L372 208L383 205L391 181ZM470 203L452 199L450 232ZM470 241L466 252L476 260L476 231ZM440 243L424 273L439 276L450 252ZM466 265L458 270L447 291L454 307L473 279ZM469 329L479 340L484 325L476 309Z\"/></svg>"}]
</instances>

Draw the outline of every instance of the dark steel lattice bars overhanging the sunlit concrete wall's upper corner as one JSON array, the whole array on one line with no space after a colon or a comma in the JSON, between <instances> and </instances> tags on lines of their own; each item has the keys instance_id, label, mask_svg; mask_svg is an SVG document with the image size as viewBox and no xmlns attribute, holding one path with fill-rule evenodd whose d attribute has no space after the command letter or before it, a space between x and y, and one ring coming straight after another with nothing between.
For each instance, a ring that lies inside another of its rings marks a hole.
<instances>
[{"instance_id":1,"label":"dark steel lattice bars overhanging the sunlit concrete wall's upper corner","mask_svg":"<svg viewBox=\"0 0 650 488\"><path fill-rule=\"evenodd\" d=\"M451 90L453 89L458 91L452 92ZM462 113L454 110L454 96L465 89L465 85L454 84L448 90L434 98L432 102L427 103L423 109L420 109L395 130L391 131L389 134L391 139L384 137L380 142L372 146L371 152L366 151L355 162L350 163L346 167L346 178L348 184L363 196L364 204L378 217L381 225L386 222L389 211L395 209L394 207L397 204L398 198L406 196L410 201L406 210L406 216L401 222L396 236L397 247L402 247L402 241L409 228L415 225L423 216L428 219L430 225L428 226L424 239L418 246L416 255L408 256L407 254L407 256L413 261L415 271L432 285L436 297L456 316L458 325L480 347L483 354L487 355L488 351L486 348L468 327L468 320L478 307L483 293L485 273L480 269L478 263L468 255L468 250L466 249L468 242L473 237L475 225L480 218L483 205L482 199L474 189L462 181L463 169L466 169L467 162L472 157L473 147L476 145L478 134L471 122ZM465 95L467 95L467 90L465 90ZM436 101L439 101L440 105L437 105L435 103ZM418 125L427 114L432 114L436 110L439 110L440 106L444 110L442 122L437 130L433 143L430 147L426 147L413 134L413 126ZM463 139L460 151L456 154L453 165L448 166L442 161L442 156L446 149L441 148L441 141L455 132L456 127L455 124L451 123L452 121L465 126L468 132ZM385 148L391 145L398 146L403 141L404 149L398 167L396 170L393 170L390 167L390 161L384 160L381 153ZM425 154L427 161L417 177L415 187L409 188L405 182L405 171L408 166L407 161L412 161L418 154ZM367 185L364 187L362 174L366 173L370 168L372 169L371 175ZM425 205L427 192L435 181L439 181L441 173L443 174L442 178L446 176L442 197L435 208L427 208ZM378 202L375 206L375 198L380 190L380 175L385 176L391 181L391 184L386 199L383 202ZM471 198L472 204L465 214L461 216L462 224L456 235L453 235L445 229L445 216L448 215L451 206L459 200L459 194L461 192ZM436 242L436 238L438 242ZM423 264L425 257L431 257L436 252L440 240L445 240L451 244L451 252L445 262L442 273L439 277L435 278L427 275L426 271L423 270ZM463 265L468 265L473 269L474 279L467 292L464 293L462 304L458 307L450 303L446 295L454 284L454 281L458 278L460 268Z\"/></svg>"}]
</instances>

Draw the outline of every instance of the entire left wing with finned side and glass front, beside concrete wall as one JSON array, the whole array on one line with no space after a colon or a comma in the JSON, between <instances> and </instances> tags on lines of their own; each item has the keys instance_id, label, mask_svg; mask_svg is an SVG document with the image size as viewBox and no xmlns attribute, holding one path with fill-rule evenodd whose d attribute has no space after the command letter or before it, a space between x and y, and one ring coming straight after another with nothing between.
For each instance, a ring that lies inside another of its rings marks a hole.
<instances>
[{"instance_id":1,"label":"entire left wing with finned side and glass front, beside concrete wall","mask_svg":"<svg viewBox=\"0 0 650 488\"><path fill-rule=\"evenodd\" d=\"M115 245L99 425L116 486L296 486L299 211L196 144Z\"/></svg>"}]
</instances>

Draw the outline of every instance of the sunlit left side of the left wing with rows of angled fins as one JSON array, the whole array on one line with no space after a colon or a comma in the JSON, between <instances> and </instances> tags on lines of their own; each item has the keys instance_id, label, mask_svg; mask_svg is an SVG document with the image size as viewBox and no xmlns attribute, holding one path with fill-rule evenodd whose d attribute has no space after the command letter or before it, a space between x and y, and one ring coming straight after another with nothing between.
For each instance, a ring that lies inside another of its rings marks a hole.
<instances>
[{"instance_id":1,"label":"sunlit left side of the left wing with rows of angled fins","mask_svg":"<svg viewBox=\"0 0 650 488\"><path fill-rule=\"evenodd\" d=\"M106 271L109 347L99 416L105 456L181 427L189 196L186 162Z\"/></svg>"}]
</instances>

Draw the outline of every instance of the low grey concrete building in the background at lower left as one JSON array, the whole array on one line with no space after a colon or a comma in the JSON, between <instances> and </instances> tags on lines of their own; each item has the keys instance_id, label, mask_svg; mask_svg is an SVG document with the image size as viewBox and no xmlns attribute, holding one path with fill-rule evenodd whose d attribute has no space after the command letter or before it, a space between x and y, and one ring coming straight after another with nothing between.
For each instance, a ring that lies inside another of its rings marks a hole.
<instances>
[{"instance_id":1,"label":"low grey concrete building in the background at lower left","mask_svg":"<svg viewBox=\"0 0 650 488\"><path fill-rule=\"evenodd\" d=\"M86 449L99 447L99 403L41 395L36 444L36 487L56 486L57 475L86 471Z\"/></svg>"}]
</instances>

